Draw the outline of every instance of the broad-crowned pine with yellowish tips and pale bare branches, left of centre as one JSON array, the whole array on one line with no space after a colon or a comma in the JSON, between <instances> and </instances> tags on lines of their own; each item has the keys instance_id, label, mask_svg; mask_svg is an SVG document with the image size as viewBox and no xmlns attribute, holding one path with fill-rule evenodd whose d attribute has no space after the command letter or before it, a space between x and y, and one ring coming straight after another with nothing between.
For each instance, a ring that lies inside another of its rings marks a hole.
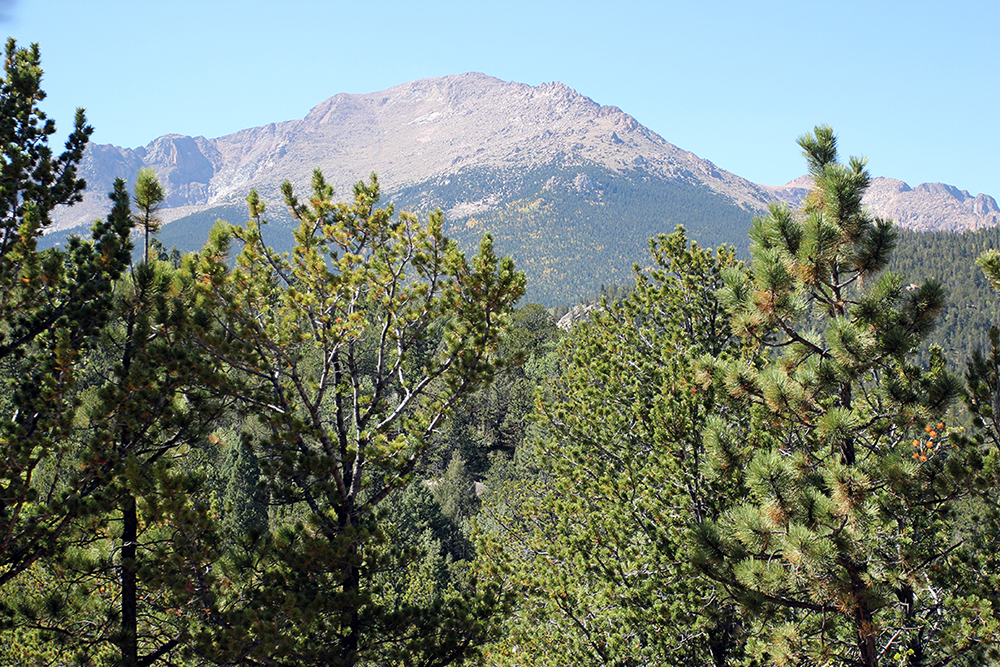
<instances>
[{"instance_id":1,"label":"broad-crowned pine with yellowish tips and pale bare branches, left of centre","mask_svg":"<svg viewBox=\"0 0 1000 667\"><path fill-rule=\"evenodd\" d=\"M232 632L206 638L206 651L445 664L469 650L480 621L462 600L453 612L379 605L370 585L384 553L377 508L411 481L456 403L504 366L497 341L524 278L488 237L468 261L444 237L440 213L420 224L377 207L374 177L350 204L333 201L319 171L308 205L291 185L283 191L300 221L290 256L263 245L252 192L247 225L217 226L190 265L212 313L201 343L242 381L235 396L263 427L254 447L271 502L296 518L232 567L219 600Z\"/></svg>"}]
</instances>

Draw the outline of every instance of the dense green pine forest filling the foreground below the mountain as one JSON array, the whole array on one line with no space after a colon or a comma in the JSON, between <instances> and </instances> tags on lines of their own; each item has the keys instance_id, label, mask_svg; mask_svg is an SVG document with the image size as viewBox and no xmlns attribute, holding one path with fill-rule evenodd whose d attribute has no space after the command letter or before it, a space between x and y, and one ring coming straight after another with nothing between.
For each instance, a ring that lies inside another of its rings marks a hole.
<instances>
[{"instance_id":1,"label":"dense green pine forest filling the foreground below the mountain","mask_svg":"<svg viewBox=\"0 0 1000 667\"><path fill-rule=\"evenodd\" d=\"M181 252L143 171L42 247L91 129L50 147L39 58L0 81L0 664L1000 661L995 230L872 218L820 126L749 253L651 232L570 330L375 177Z\"/></svg>"}]
</instances>

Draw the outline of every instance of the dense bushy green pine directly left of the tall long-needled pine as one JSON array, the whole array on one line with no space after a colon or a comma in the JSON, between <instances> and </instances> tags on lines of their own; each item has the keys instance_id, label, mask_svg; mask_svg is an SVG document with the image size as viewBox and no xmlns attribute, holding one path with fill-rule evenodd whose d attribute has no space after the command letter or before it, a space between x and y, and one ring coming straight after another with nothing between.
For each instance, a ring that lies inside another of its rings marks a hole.
<instances>
[{"instance_id":1,"label":"dense bushy green pine directly left of the tall long-needled pine","mask_svg":"<svg viewBox=\"0 0 1000 667\"><path fill-rule=\"evenodd\" d=\"M730 490L698 469L713 392L692 372L728 348L714 290L733 253L683 229L650 249L631 295L568 340L538 473L489 489L482 567L521 598L491 664L734 664L738 621L683 557Z\"/></svg>"}]
</instances>

